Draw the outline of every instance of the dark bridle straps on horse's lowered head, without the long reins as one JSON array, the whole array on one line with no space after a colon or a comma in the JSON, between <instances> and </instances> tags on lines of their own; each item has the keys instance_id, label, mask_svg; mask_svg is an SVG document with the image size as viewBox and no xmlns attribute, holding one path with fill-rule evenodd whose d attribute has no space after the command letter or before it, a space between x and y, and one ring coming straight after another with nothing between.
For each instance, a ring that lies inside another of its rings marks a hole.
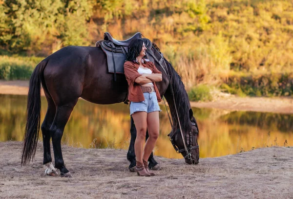
<instances>
[{"instance_id":1,"label":"dark bridle straps on horse's lowered head, without the long reins","mask_svg":"<svg viewBox=\"0 0 293 199\"><path fill-rule=\"evenodd\" d=\"M191 124L192 124L192 126L195 126L196 127L196 124L194 122L191 122ZM175 151L176 151L177 154L181 154L183 152L187 152L186 155L184 156L184 158L185 159L186 158L191 159L191 150L192 149L198 149L199 148L199 145L193 145L193 143L192 143L192 140L193 140L192 139L192 132L189 132L189 134L188 133L186 134L186 143L187 143L186 148L187 148L187 150L186 150L185 147L184 147L184 149L179 149L178 146L175 143L175 137L174 137L179 132L180 132L180 129L177 129L174 133L173 133L173 131L171 131L171 133L168 134L168 136L170 137L170 141L171 141L171 143L172 143L172 145L173 145L173 147L174 147L174 149L175 149ZM198 135L197 128L196 128L195 135L196 136Z\"/></svg>"}]
</instances>

